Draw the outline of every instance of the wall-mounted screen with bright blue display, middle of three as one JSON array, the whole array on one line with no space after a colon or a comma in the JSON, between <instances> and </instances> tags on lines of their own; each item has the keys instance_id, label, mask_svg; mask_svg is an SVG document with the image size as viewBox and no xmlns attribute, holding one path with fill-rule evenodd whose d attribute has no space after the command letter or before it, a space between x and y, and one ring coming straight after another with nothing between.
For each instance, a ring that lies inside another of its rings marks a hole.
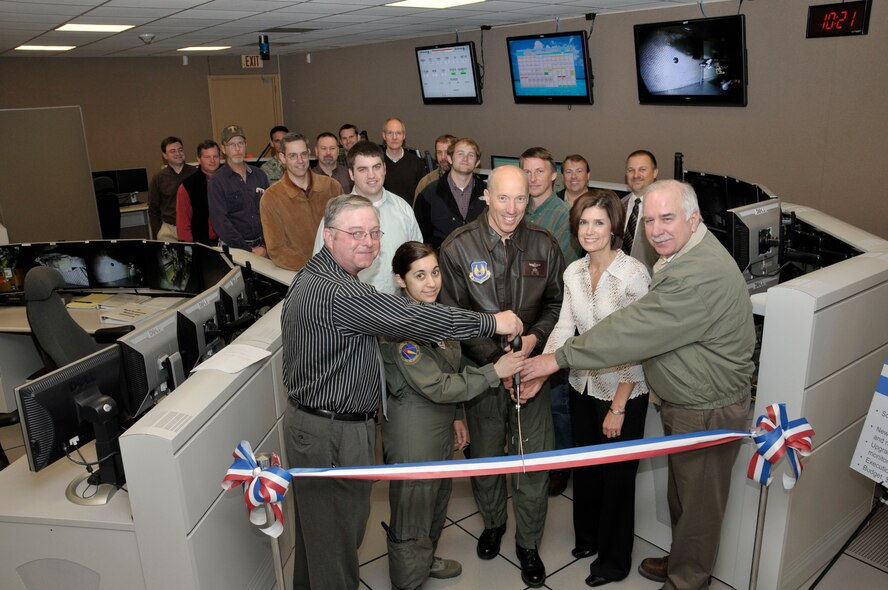
<instances>
[{"instance_id":1,"label":"wall-mounted screen with bright blue display, middle of three","mask_svg":"<svg viewBox=\"0 0 888 590\"><path fill-rule=\"evenodd\" d=\"M509 37L516 103L592 104L585 31Z\"/></svg>"}]
</instances>

